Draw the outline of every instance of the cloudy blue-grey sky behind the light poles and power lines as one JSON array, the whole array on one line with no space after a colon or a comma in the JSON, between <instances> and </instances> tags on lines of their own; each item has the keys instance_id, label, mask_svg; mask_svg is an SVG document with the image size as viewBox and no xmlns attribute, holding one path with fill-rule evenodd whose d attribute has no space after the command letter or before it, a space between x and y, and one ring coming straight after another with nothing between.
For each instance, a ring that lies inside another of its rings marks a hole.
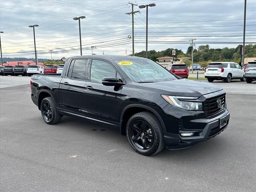
<instances>
[{"instance_id":1,"label":"cloudy blue-grey sky behind the light poles and power lines","mask_svg":"<svg viewBox=\"0 0 256 192\"><path fill-rule=\"evenodd\" d=\"M182 49L190 39L195 48L236 47L242 44L244 0L138 0L148 8L148 50ZM134 16L135 52L145 50L146 9ZM131 5L126 0L0 0L3 57L34 58L33 30L38 24L38 58L80 55L78 21L81 19L83 54L131 54ZM247 0L246 42L256 43L256 0ZM127 50L127 52L126 52Z\"/></svg>"}]
</instances>

